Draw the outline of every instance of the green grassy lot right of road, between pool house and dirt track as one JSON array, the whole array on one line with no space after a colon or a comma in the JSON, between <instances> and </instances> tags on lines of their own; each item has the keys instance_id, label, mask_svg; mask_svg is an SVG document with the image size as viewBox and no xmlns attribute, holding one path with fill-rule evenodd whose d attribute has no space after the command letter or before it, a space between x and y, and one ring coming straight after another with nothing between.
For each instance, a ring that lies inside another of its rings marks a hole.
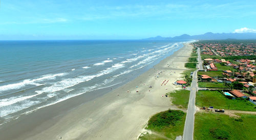
<instances>
[{"instance_id":1,"label":"green grassy lot right of road, between pool house and dirt track","mask_svg":"<svg viewBox=\"0 0 256 140\"><path fill-rule=\"evenodd\" d=\"M214 106L215 108L230 110L256 111L256 105L243 98L228 99L219 91L198 91L197 106Z\"/></svg>"}]
</instances>

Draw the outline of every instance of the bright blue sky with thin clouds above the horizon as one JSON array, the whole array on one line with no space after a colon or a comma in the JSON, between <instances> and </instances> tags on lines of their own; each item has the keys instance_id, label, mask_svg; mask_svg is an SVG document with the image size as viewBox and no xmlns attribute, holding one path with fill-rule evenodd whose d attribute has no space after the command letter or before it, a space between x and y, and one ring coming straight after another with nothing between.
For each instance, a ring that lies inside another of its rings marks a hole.
<instances>
[{"instance_id":1,"label":"bright blue sky with thin clouds above the horizon","mask_svg":"<svg viewBox=\"0 0 256 140\"><path fill-rule=\"evenodd\" d=\"M256 33L256 1L0 0L0 40Z\"/></svg>"}]
</instances>

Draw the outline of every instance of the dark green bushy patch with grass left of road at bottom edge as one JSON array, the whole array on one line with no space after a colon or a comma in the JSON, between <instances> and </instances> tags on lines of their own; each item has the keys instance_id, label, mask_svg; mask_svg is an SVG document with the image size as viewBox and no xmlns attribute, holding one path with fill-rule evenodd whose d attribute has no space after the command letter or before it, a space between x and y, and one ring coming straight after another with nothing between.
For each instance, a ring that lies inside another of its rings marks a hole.
<instances>
[{"instance_id":1,"label":"dark green bushy patch with grass left of road at bottom edge","mask_svg":"<svg viewBox=\"0 0 256 140\"><path fill-rule=\"evenodd\" d=\"M152 134L141 135L139 139L175 139L183 135L186 114L181 110L166 110L151 117L146 129Z\"/></svg>"}]
</instances>

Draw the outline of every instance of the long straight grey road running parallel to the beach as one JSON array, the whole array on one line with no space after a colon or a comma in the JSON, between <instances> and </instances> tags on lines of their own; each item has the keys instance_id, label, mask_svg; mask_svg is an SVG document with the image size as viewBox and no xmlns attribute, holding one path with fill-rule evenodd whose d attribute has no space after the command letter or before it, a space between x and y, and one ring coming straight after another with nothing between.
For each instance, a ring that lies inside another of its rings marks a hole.
<instances>
[{"instance_id":1,"label":"long straight grey road running parallel to the beach","mask_svg":"<svg viewBox=\"0 0 256 140\"><path fill-rule=\"evenodd\" d=\"M198 48L198 67L199 70L202 70L202 60L200 55L200 48ZM189 95L189 102L187 108L187 116L184 125L183 131L183 140L191 140L194 136L194 123L195 123L195 113L196 113L196 93L198 89L198 79L197 79L197 70L193 73L193 80L191 83L191 90Z\"/></svg>"}]
</instances>

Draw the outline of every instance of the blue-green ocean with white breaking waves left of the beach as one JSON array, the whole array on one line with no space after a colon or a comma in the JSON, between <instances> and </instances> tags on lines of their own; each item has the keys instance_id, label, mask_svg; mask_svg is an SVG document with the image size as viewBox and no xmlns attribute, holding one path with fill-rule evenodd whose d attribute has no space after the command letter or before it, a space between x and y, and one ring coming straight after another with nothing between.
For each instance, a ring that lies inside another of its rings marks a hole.
<instances>
[{"instance_id":1,"label":"blue-green ocean with white breaking waves left of the beach","mask_svg":"<svg viewBox=\"0 0 256 140\"><path fill-rule=\"evenodd\" d=\"M0 41L0 124L81 94L123 85L184 42Z\"/></svg>"}]
</instances>

